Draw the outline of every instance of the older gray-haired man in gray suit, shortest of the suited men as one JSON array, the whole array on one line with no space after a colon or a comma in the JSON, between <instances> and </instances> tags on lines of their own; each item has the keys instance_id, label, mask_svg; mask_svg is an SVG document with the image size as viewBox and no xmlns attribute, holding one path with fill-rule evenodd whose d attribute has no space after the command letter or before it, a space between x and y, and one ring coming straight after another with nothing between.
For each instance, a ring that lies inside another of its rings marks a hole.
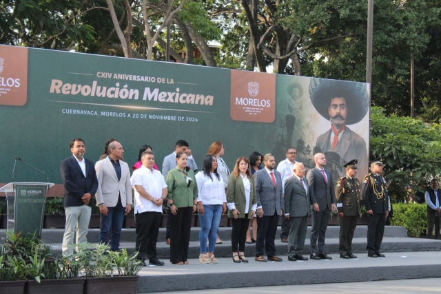
<instances>
[{"instance_id":1,"label":"older gray-haired man in gray suit, shortest of the suited men","mask_svg":"<svg viewBox=\"0 0 441 294\"><path fill-rule=\"evenodd\" d=\"M285 218L289 220L288 260L308 260L302 256L309 215L309 187L305 166L296 162L294 176L285 182Z\"/></svg>"}]
</instances>

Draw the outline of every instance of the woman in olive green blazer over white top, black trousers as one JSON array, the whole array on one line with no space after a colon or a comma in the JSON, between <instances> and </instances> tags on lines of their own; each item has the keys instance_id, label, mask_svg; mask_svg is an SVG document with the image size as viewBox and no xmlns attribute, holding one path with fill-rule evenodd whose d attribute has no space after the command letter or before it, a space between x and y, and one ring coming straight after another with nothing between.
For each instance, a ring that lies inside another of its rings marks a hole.
<instances>
[{"instance_id":1,"label":"woman in olive green blazer over white top, black trousers","mask_svg":"<svg viewBox=\"0 0 441 294\"><path fill-rule=\"evenodd\" d=\"M227 183L228 218L232 219L233 262L248 262L245 259L245 240L249 220L254 216L257 207L254 176L249 171L249 160L240 157L236 160L234 170ZM239 248L238 248L239 244Z\"/></svg>"}]
</instances>

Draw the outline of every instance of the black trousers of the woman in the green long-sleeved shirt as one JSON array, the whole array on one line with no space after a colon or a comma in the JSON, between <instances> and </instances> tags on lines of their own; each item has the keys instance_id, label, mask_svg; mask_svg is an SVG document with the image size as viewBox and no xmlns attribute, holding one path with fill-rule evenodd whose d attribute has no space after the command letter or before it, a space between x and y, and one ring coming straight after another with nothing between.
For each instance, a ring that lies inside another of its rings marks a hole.
<instances>
[{"instance_id":1,"label":"black trousers of the woman in the green long-sleeved shirt","mask_svg":"<svg viewBox=\"0 0 441 294\"><path fill-rule=\"evenodd\" d=\"M170 262L186 262L192 229L193 207L178 207L176 215L170 214Z\"/></svg>"}]
</instances>

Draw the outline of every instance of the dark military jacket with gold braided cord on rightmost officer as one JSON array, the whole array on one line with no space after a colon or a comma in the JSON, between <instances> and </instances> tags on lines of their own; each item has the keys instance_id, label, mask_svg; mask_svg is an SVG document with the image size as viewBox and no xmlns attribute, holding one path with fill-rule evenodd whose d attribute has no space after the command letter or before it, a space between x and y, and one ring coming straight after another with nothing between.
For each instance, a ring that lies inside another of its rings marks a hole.
<instances>
[{"instance_id":1,"label":"dark military jacket with gold braided cord on rightmost officer","mask_svg":"<svg viewBox=\"0 0 441 294\"><path fill-rule=\"evenodd\" d=\"M383 176L377 176L374 173L367 174L362 183L361 196L366 211L372 210L373 213L382 214L389 210L389 199Z\"/></svg>"}]
</instances>

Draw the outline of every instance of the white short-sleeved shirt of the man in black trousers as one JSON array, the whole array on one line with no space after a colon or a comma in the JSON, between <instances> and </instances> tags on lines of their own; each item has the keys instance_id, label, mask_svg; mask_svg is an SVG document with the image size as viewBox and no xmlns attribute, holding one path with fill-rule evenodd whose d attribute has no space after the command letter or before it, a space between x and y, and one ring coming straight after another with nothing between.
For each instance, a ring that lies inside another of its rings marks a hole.
<instances>
[{"instance_id":1,"label":"white short-sleeved shirt of the man in black trousers","mask_svg":"<svg viewBox=\"0 0 441 294\"><path fill-rule=\"evenodd\" d=\"M141 166L139 169L136 169L133 172L132 178L130 178L132 182L132 187L135 185L140 185L143 189L150 194L154 199L161 198L163 196L163 189L167 188L167 184L165 184L165 180L160 171L156 171L156 169L147 169L145 166ZM139 192L135 190L135 208L134 213L143 213L146 211L155 211L155 212L163 212L162 205L157 206L153 204L152 201L144 198L139 195Z\"/></svg>"}]
</instances>

